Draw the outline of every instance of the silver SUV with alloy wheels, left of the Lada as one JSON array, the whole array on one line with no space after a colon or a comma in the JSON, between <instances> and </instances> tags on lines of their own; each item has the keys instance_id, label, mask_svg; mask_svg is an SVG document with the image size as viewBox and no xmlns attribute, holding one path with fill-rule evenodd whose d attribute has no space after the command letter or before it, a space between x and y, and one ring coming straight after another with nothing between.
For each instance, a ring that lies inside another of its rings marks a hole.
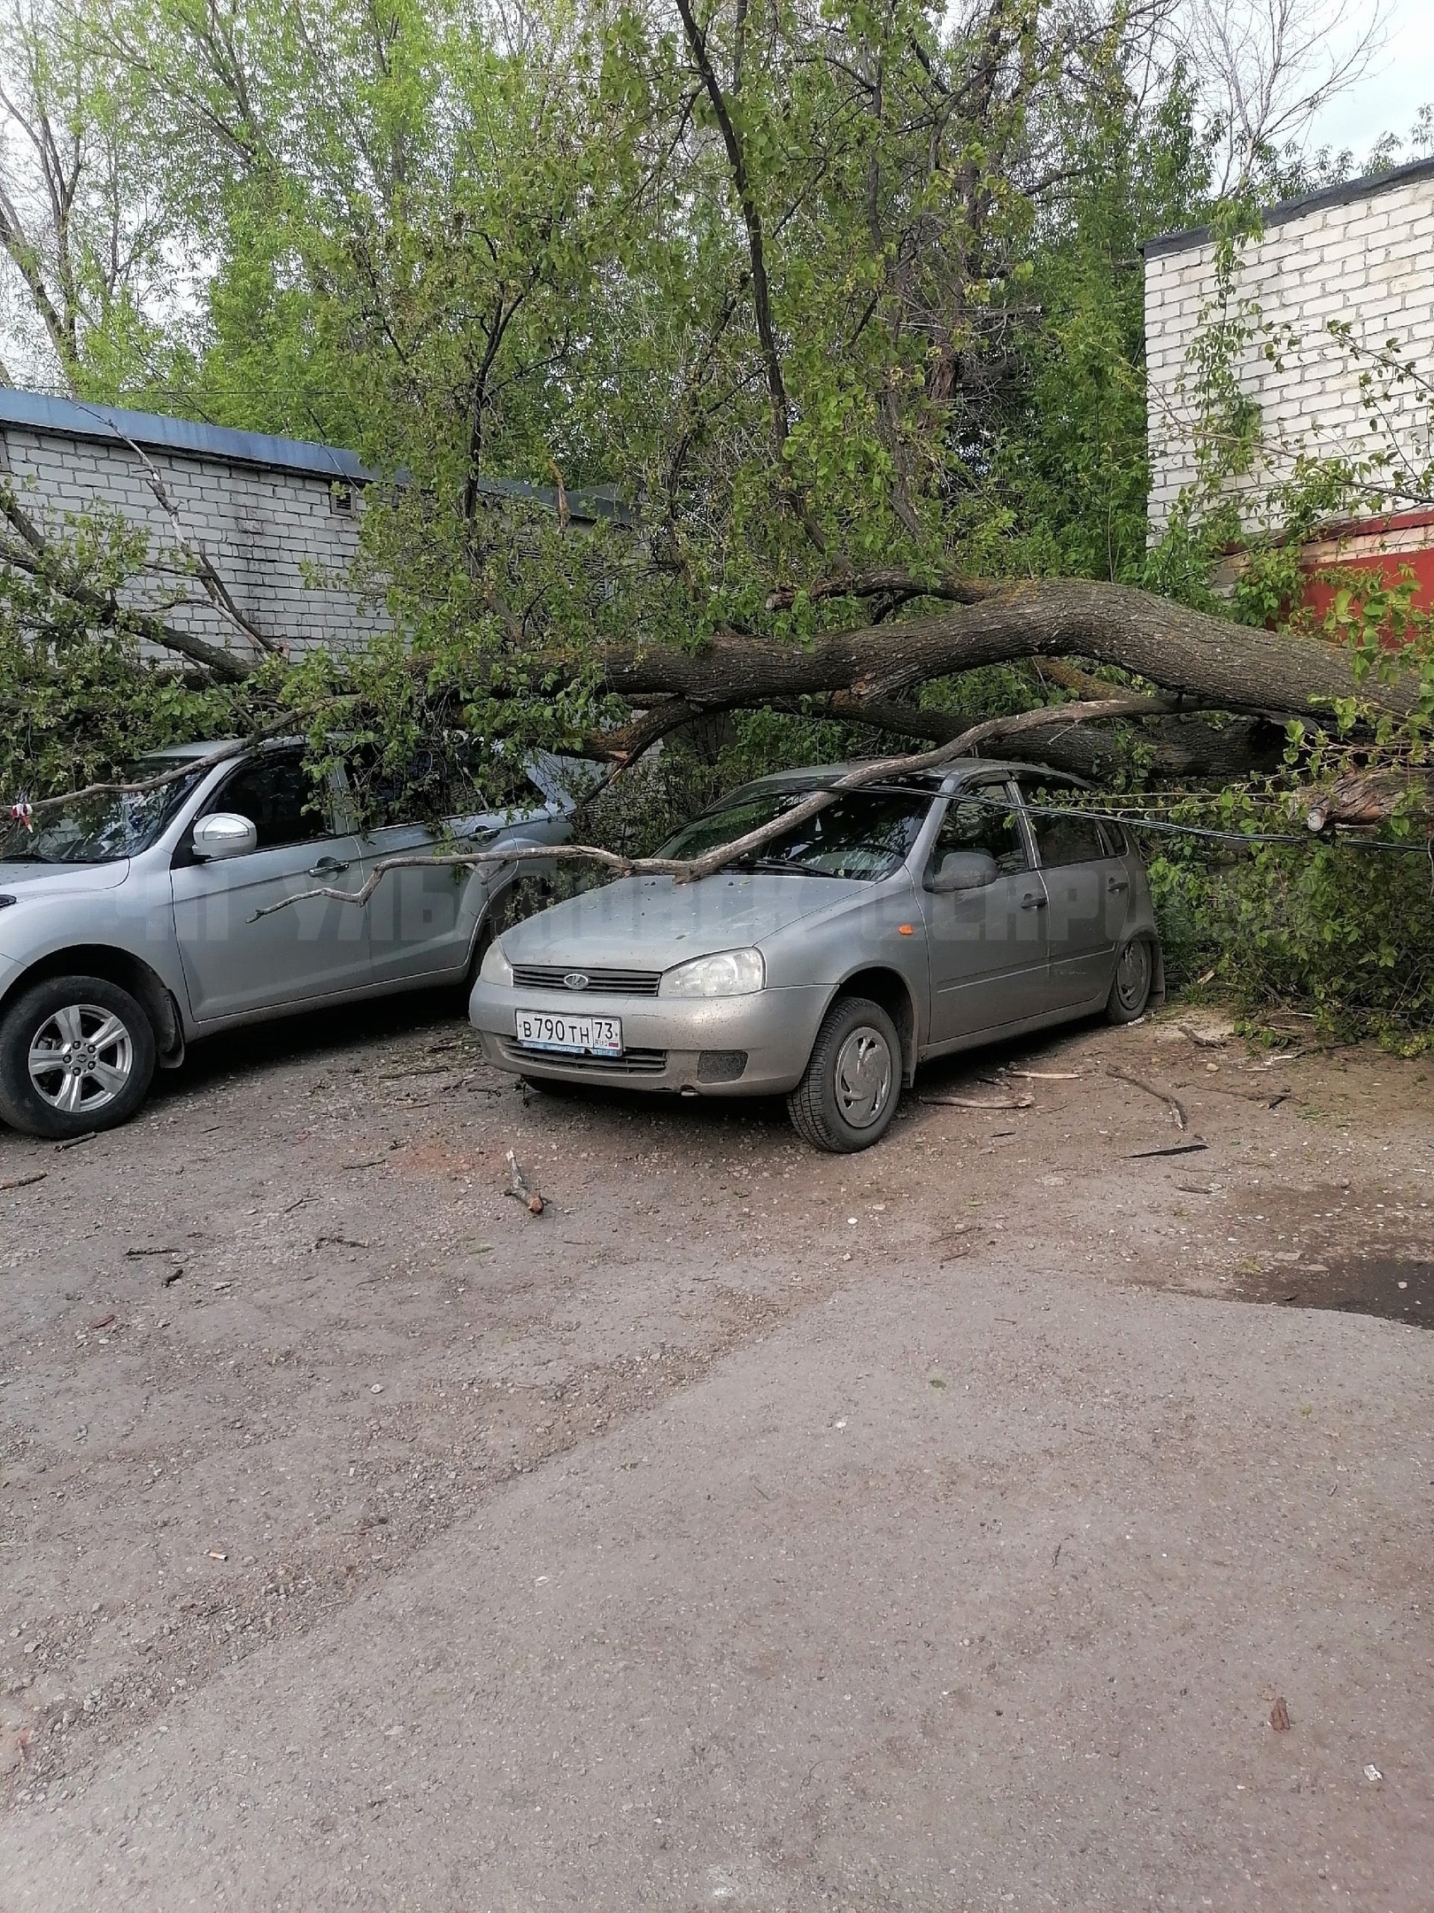
<instances>
[{"instance_id":1,"label":"silver SUV with alloy wheels, left of the Lada","mask_svg":"<svg viewBox=\"0 0 1434 1913\"><path fill-rule=\"evenodd\" d=\"M348 777L315 803L298 744L214 763L220 748L155 752L119 781L184 775L75 798L0 840L0 1117L15 1129L65 1138L122 1123L155 1066L176 1067L218 1029L463 983L512 909L518 867L497 863L396 870L367 909L319 897L256 918L315 882L358 890L379 857L434 832L359 834ZM572 771L526 759L509 809L449 828L499 847L562 844ZM522 870L528 884L543 865Z\"/></svg>"}]
</instances>

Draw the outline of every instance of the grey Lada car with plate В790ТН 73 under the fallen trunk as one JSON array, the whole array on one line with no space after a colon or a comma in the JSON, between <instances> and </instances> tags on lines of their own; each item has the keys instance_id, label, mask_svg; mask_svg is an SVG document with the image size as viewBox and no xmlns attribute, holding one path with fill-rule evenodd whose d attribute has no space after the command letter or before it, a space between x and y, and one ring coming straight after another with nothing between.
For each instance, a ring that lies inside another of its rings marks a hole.
<instances>
[{"instance_id":1,"label":"grey Lada car with plate \u0412790\u0422\u041d 73 under the fallen trunk","mask_svg":"<svg viewBox=\"0 0 1434 1913\"><path fill-rule=\"evenodd\" d=\"M748 784L662 853L730 844L843 769ZM786 1092L807 1142L864 1150L927 1058L1164 995L1140 857L1075 790L967 759L847 792L715 876L621 878L505 930L468 1016L535 1087Z\"/></svg>"}]
</instances>

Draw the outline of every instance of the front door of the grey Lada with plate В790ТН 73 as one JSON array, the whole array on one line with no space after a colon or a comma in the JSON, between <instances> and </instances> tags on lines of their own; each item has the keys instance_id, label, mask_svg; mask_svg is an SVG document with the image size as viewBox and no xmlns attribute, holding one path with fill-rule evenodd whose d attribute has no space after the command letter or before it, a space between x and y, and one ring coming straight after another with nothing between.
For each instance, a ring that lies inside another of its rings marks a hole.
<instances>
[{"instance_id":1,"label":"front door of the grey Lada with plate \u0412790\u0422\u041d 73","mask_svg":"<svg viewBox=\"0 0 1434 1913\"><path fill-rule=\"evenodd\" d=\"M948 851L973 849L996 859L994 884L922 890L933 1044L1019 1023L1048 1006L1046 890L1010 784L973 786L946 802L923 874L935 874Z\"/></svg>"}]
</instances>

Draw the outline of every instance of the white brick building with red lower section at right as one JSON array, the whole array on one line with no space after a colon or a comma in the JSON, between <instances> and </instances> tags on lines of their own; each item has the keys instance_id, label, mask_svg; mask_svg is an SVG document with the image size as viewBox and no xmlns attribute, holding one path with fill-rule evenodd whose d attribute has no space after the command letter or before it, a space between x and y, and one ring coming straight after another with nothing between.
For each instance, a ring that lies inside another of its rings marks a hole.
<instances>
[{"instance_id":1,"label":"white brick building with red lower section at right","mask_svg":"<svg viewBox=\"0 0 1434 1913\"><path fill-rule=\"evenodd\" d=\"M1151 539L1184 486L1195 478L1189 350L1216 297L1208 228L1166 233L1143 247ZM1394 495L1379 513L1329 524L1304 549L1308 570L1329 564L1394 582L1401 566L1434 606L1434 509L1417 474L1434 461L1434 161L1354 180L1270 209L1247 241L1233 279L1233 308L1250 321L1237 375L1260 407L1262 459L1239 486L1249 494L1294 471L1300 453L1394 459ZM1233 310L1231 308L1231 310ZM1340 341L1329 321L1350 327ZM1266 344L1279 350L1266 356ZM1413 365L1392 385L1371 429L1361 373L1377 354ZM1312 585L1315 608L1327 593Z\"/></svg>"}]
</instances>

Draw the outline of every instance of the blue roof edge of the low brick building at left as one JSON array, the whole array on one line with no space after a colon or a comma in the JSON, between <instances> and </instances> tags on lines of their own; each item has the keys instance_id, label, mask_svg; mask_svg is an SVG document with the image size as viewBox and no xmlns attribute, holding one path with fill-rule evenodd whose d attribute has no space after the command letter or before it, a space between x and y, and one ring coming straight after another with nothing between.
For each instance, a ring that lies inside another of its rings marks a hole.
<instances>
[{"instance_id":1,"label":"blue roof edge of the low brick building at left","mask_svg":"<svg viewBox=\"0 0 1434 1913\"><path fill-rule=\"evenodd\" d=\"M57 438L82 438L92 444L140 446L143 451L164 451L182 459L214 459L222 465L245 465L250 471L293 473L304 478L323 478L329 484L375 484L379 473L363 465L358 451L342 446L321 446L308 438L273 438L268 432L239 432L228 425L206 425L199 419L174 419L161 411L128 411L124 406L92 406L80 398L59 398L50 392L21 392L0 388L0 430L15 427L29 432L48 432ZM405 474L398 473L398 482ZM478 492L491 499L539 505L558 511L558 494L547 486L524 484L520 478L480 478ZM562 497L576 524L598 520L631 526L631 511L608 492L566 492Z\"/></svg>"}]
</instances>

